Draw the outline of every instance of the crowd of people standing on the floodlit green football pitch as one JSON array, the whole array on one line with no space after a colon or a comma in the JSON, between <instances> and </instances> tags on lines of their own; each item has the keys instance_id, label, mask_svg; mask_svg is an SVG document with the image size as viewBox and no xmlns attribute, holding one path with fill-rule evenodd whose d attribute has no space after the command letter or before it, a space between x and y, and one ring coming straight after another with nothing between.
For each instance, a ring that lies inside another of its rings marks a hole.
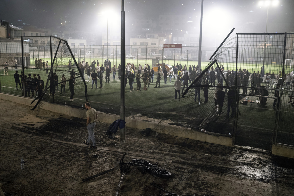
<instances>
[{"instance_id":1,"label":"crowd of people standing on the floodlit green football pitch","mask_svg":"<svg viewBox=\"0 0 294 196\"><path fill-rule=\"evenodd\" d=\"M97 66L96 66L97 65ZM46 70L46 73L48 73L48 61L43 61L42 59L35 59L35 66L36 68L39 68L40 70L42 70L42 68L44 70ZM118 80L121 79L121 65L119 64L117 67L116 65L112 66L112 63L110 60L106 59L104 61L104 63L99 64L98 60L97 62L94 60L91 62L91 64L89 65L88 62L80 61L78 63L78 66L80 68L81 71L81 75L84 78L84 80L86 82L92 82L92 88L95 86L96 88L103 88L103 79L105 79L105 83L109 83L110 82L110 75L112 73L112 80L116 80L116 76L118 78ZM75 72L74 69L72 68L72 63L69 60L69 64L68 64L68 68L70 71L70 75L71 75L71 80L69 80L69 89L71 91L71 97L70 100L73 101L73 95L74 95L74 84L75 84ZM4 66L4 75L7 73L8 75L8 65L5 64ZM116 72L118 72L118 74L116 74ZM104 75L105 73L105 75ZM86 76L88 77L85 77ZM23 86L26 85L26 91L25 96L30 96L30 92L32 94L32 96L34 95L34 91L35 91L35 95L38 95L38 91L37 89L40 88L40 92L43 91L44 88L44 82L43 85L37 85L37 81L39 80L38 77L36 77L36 74L33 75L34 77L31 78L30 74L29 77L24 76L24 78L22 78L22 74L21 76L19 76L19 74L16 72L14 74L14 78L15 78L15 82L16 82L16 89L18 89L18 84L20 86L20 89L23 89ZM39 76L39 75L38 75ZM195 79L198 76L201 76L196 82L194 82L194 86L199 86L201 85L201 87L195 87L195 98L194 101L198 102L199 104L201 104L200 101L200 92L201 90L203 90L203 94L204 94L204 104L208 102L208 89L211 88L210 86L214 86L215 88L215 95L214 95L214 99L216 101L216 103L218 103L218 94L220 94L220 97L222 97L223 93L221 92L217 92L220 91L220 88L216 87L216 83L217 86L234 86L235 84L237 84L237 92L238 94L252 94L252 95L259 95L259 96L268 96L268 88L272 87L272 85L274 84L276 87L276 91L274 93L275 97L279 97L278 90L280 89L281 84L283 84L285 82L284 85L284 89L286 90L291 90L290 91L290 101L289 103L293 103L292 102L292 98L293 98L293 90L294 90L294 71L292 71L291 73L288 73L288 75L286 75L285 73L282 74L282 71L279 71L278 74L273 73L264 73L264 70L261 68L260 71L253 71L253 73L250 73L249 70L243 69L241 70L241 68L238 70L237 74L235 73L234 70L228 70L228 71L224 71L224 67L220 66L220 68L218 67L211 67L210 69L206 70L205 73L202 73L202 70L199 69L198 65L193 65L193 66L182 66L181 64L176 64L173 65L171 68L166 66L165 63L163 63L162 65L158 64L157 66L157 72L155 72L154 68L149 66L148 64L145 64L144 66L142 66L141 64L139 64L138 67L136 67L134 65L134 63L127 63L127 65L125 66L125 75L124 75L124 80L125 80L125 88L127 83L129 84L130 87L130 92L134 91L134 87L133 87L133 83L135 82L136 79L136 91L141 91L141 85L143 82L144 88L143 90L147 91L148 88L150 88L150 83L154 82L154 76L156 77L156 86L154 86L154 88L161 88L161 79L163 77L164 79L164 83L163 84L167 84L168 78L169 78L169 82L171 83L171 79L174 77L175 83L175 99L177 99L177 94L179 94L179 100L180 100L180 95L183 94L183 92L185 91L186 88L188 88L189 84L191 84L192 82L195 81ZM81 77L81 81L83 80ZM19 80L19 78L21 78L21 80ZM41 80L41 78L40 78ZM100 86L97 86L97 81L100 81ZM41 80L42 81L42 80ZM53 73L53 76L49 76L49 81L50 81L50 94L52 93L56 93L56 89L57 92L59 92L59 88L58 88L58 83L59 83L59 78L56 75L56 73ZM275 83L273 82L275 81ZM61 89L60 89L60 93L65 93L65 85L66 85L66 78L63 75L61 78ZM55 84L55 85L54 85ZM279 84L279 85L278 85ZM54 86L54 88L53 88ZM248 92L248 87L250 88L250 91ZM183 87L183 88L182 88ZM182 89L181 89L182 88ZM223 88L223 87L222 87ZM240 88L242 89L242 93L240 92ZM62 92L63 89L63 92ZM228 89L225 88L225 92L224 93L228 93L227 92ZM230 90L229 90L230 91ZM23 93L23 94L24 94ZM198 99L197 99L198 98ZM222 99L219 100L220 102L222 101ZM279 103L279 99L276 99L276 101ZM275 103L275 102L274 102ZM260 104L261 105L265 105L266 104L266 98L260 98ZM221 104L219 104L221 105ZM274 104L275 107L275 104ZM221 109L220 109L221 110Z\"/></svg>"}]
</instances>

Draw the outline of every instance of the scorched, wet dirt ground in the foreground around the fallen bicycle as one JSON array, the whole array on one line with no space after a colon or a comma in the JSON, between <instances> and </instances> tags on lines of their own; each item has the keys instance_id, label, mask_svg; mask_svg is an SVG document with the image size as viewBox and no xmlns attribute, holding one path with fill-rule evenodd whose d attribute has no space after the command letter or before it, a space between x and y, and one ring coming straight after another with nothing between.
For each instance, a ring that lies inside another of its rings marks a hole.
<instances>
[{"instance_id":1,"label":"scorched, wet dirt ground in the foreground around the fallen bicycle","mask_svg":"<svg viewBox=\"0 0 294 196\"><path fill-rule=\"evenodd\" d=\"M81 110L85 113L86 110ZM170 179L127 173L120 195L164 195L150 183L178 195L293 195L294 160L159 133L142 136L126 127L126 141L106 137L109 124L97 123L97 150L83 144L86 120L0 100L0 183L15 195L116 195L117 168L92 180L82 179L111 169L124 152L158 162ZM98 156L94 157L96 153ZM24 158L25 169L20 167Z\"/></svg>"}]
</instances>

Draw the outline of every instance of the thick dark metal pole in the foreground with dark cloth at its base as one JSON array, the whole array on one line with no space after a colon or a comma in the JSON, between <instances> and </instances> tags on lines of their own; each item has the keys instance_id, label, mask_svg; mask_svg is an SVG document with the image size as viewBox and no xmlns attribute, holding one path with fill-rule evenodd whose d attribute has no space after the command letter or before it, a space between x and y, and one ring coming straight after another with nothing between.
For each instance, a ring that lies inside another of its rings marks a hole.
<instances>
[{"instance_id":1,"label":"thick dark metal pole in the foreground with dark cloth at its base","mask_svg":"<svg viewBox=\"0 0 294 196\"><path fill-rule=\"evenodd\" d=\"M125 1L121 0L121 110L120 119L126 120L126 108L125 108ZM126 130L121 129L120 134L121 142L126 140Z\"/></svg>"}]
</instances>

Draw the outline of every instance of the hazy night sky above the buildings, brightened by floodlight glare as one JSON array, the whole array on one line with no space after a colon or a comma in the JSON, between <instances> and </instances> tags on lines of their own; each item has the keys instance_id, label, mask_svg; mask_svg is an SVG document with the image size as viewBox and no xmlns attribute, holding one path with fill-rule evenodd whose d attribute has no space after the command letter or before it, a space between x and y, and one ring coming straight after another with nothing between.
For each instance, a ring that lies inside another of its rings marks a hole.
<instances>
[{"instance_id":1,"label":"hazy night sky above the buildings, brightened by floodlight glare","mask_svg":"<svg viewBox=\"0 0 294 196\"><path fill-rule=\"evenodd\" d=\"M25 23L39 28L51 28L64 21L70 21L72 24L83 22L85 26L92 26L97 24L99 13L109 8L116 11L118 15L121 11L121 0L0 0L0 2L0 19L9 21L15 26L23 26ZM270 7L268 32L293 31L291 29L294 23L293 8L294 0L280 0L279 6ZM200 10L200 0L125 1L127 22L136 17L158 20L158 15L163 13L200 16ZM256 32L263 33L265 32L266 11L266 7L258 6L258 1L214 0L213 2L204 0L203 21L206 23L203 23L203 28L205 30L205 28L217 25L220 22L218 19L225 16L222 21L227 23L228 32L235 27L239 33L248 33L246 29L239 28L239 26L254 22ZM199 21L200 17L194 19Z\"/></svg>"}]
</instances>

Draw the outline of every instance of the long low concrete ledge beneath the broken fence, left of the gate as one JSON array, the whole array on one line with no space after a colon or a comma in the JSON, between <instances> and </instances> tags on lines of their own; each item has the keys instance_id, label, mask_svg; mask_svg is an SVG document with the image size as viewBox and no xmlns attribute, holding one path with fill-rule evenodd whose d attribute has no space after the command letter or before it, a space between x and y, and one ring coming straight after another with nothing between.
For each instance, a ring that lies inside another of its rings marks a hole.
<instances>
[{"instance_id":1,"label":"long low concrete ledge beneath the broken fence, left of the gate","mask_svg":"<svg viewBox=\"0 0 294 196\"><path fill-rule=\"evenodd\" d=\"M31 98L23 98L19 96L8 95L4 93L0 93L0 99L19 103L23 105L28 105L33 107L35 103L31 104L33 99ZM60 104L52 104L46 102L43 106L44 110L49 110L51 112L60 113L64 115L69 115L76 118L86 118L86 110L72 108L68 105L60 105ZM115 120L119 119L119 115L97 112L98 120L103 123L112 123ZM168 125L166 122L159 123L154 119L150 120L142 120L142 119L133 119L126 118L126 126L137 129L145 129L145 128L156 128L156 131L159 133L166 133L169 135L174 135L182 138L189 138L193 140L199 140L208 143L215 143L220 145L232 146L232 138L222 136L222 135L209 135L206 133L202 133L199 131L193 131L190 128L183 128L176 125Z\"/></svg>"}]
</instances>

